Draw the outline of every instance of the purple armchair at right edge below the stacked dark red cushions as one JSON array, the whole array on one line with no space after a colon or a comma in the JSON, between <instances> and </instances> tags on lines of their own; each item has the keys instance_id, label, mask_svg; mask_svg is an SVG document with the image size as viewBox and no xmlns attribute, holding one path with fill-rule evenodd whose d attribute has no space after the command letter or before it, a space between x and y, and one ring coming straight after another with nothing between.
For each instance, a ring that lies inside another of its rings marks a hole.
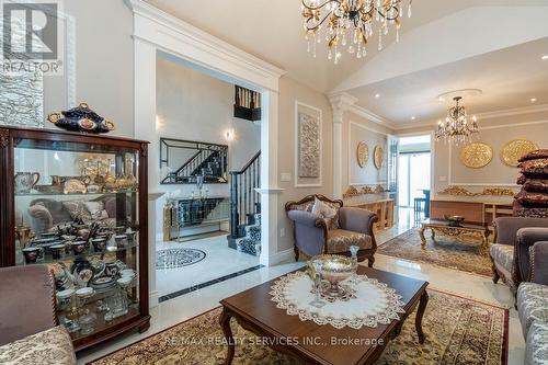
<instances>
[{"instance_id":1,"label":"purple armchair at right edge below the stacked dark red cushions","mask_svg":"<svg viewBox=\"0 0 548 365\"><path fill-rule=\"evenodd\" d=\"M501 217L493 225L493 283L502 277L514 295L521 282L548 285L548 219Z\"/></svg>"}]
</instances>

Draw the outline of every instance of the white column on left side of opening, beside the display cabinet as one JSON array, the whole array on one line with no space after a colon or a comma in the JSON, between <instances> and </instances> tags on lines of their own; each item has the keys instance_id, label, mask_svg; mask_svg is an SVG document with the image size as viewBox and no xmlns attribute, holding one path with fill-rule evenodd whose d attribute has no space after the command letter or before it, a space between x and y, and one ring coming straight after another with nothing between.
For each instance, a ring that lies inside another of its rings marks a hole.
<instances>
[{"instance_id":1,"label":"white column on left side of opening, beside the display cabinet","mask_svg":"<svg viewBox=\"0 0 548 365\"><path fill-rule=\"evenodd\" d=\"M156 287L156 201L159 157L156 132L156 46L134 41L134 121L135 138L150 141L148 147L148 288L150 308L158 306Z\"/></svg>"}]
</instances>

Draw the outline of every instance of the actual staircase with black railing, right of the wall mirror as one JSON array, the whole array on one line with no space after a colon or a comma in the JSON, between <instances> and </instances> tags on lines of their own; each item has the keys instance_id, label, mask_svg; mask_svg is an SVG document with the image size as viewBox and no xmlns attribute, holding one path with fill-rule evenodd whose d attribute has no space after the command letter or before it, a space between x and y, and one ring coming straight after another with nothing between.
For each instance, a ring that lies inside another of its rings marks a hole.
<instances>
[{"instance_id":1,"label":"actual staircase with black railing, right of the wall mirror","mask_svg":"<svg viewBox=\"0 0 548 365\"><path fill-rule=\"evenodd\" d=\"M252 255L261 253L261 151L240 171L230 172L230 235L228 247Z\"/></svg>"}]
</instances>

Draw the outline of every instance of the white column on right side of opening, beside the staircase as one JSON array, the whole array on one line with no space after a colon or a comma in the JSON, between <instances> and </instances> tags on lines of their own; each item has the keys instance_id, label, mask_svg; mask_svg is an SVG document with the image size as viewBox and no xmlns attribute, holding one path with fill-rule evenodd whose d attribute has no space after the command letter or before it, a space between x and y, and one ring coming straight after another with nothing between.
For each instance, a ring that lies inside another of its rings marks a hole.
<instances>
[{"instance_id":1,"label":"white column on right side of opening, beside the staircase","mask_svg":"<svg viewBox=\"0 0 548 365\"><path fill-rule=\"evenodd\" d=\"M275 91L262 93L263 119L261 121L261 256L263 265L275 265L277 259L277 186L278 153L278 94Z\"/></svg>"}]
</instances>

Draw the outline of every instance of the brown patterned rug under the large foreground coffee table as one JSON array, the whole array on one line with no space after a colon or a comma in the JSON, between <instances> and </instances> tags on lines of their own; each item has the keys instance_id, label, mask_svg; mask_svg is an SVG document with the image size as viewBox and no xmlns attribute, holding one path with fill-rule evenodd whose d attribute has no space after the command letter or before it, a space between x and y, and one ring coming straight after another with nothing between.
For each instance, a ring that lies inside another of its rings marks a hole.
<instances>
[{"instance_id":1,"label":"brown patterned rug under the large foreground coffee table","mask_svg":"<svg viewBox=\"0 0 548 365\"><path fill-rule=\"evenodd\" d=\"M412 313L400 335L388 343L377 364L506 364L507 308L431 288L429 294L430 301L423 317L424 344L418 342ZM224 364L227 347L218 323L219 315L220 308L216 308L90 364ZM231 327L237 341L235 365L298 364L260 344L260 339L240 328L235 320Z\"/></svg>"}]
</instances>

